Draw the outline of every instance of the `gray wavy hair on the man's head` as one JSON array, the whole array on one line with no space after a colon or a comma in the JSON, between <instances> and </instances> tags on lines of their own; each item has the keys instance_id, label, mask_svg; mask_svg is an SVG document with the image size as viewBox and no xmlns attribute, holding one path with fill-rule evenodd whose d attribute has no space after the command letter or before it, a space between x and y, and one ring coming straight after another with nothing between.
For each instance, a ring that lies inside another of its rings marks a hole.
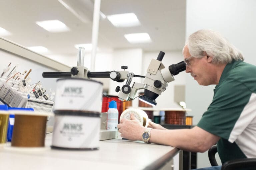
<instances>
[{"instance_id":1,"label":"gray wavy hair on the man's head","mask_svg":"<svg viewBox=\"0 0 256 170\"><path fill-rule=\"evenodd\" d=\"M241 52L218 32L199 30L191 34L186 42L189 53L201 58L207 55L213 57L213 63L230 63L232 60L244 60Z\"/></svg>"}]
</instances>

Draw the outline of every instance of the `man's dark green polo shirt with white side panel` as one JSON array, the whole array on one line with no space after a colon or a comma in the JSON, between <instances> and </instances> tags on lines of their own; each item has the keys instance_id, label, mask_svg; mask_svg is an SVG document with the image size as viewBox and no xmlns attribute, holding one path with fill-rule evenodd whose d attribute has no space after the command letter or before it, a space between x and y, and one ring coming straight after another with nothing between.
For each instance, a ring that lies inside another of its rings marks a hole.
<instances>
[{"instance_id":1,"label":"man's dark green polo shirt with white side panel","mask_svg":"<svg viewBox=\"0 0 256 170\"><path fill-rule=\"evenodd\" d=\"M256 66L241 60L226 65L197 126L221 137L217 149L222 164L256 157Z\"/></svg>"}]
</instances>

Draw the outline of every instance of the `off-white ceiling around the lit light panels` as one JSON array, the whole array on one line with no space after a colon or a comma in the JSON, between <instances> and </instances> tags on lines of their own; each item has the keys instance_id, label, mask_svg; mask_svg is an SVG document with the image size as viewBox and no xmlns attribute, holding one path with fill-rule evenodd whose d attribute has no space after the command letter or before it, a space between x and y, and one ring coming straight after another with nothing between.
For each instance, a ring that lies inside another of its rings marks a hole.
<instances>
[{"instance_id":1,"label":"off-white ceiling around the lit light panels","mask_svg":"<svg viewBox=\"0 0 256 170\"><path fill-rule=\"evenodd\" d=\"M92 22L82 22L58 0L0 0L0 27L11 32L4 38L25 47L44 46L46 56L76 56L74 44L91 43ZM186 0L101 0L107 15L135 13L141 25L116 28L106 18L99 23L100 52L119 48L144 51L181 50L185 41ZM60 20L71 31L50 33L36 21ZM147 32L150 43L130 44L124 34Z\"/></svg>"}]
</instances>

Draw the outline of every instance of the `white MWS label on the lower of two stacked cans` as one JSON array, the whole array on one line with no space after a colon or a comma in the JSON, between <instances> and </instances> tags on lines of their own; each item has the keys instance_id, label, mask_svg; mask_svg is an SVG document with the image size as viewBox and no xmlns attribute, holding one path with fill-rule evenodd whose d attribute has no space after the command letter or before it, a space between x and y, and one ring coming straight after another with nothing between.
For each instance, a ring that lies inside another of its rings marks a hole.
<instances>
[{"instance_id":1,"label":"white MWS label on the lower of two stacked cans","mask_svg":"<svg viewBox=\"0 0 256 170\"><path fill-rule=\"evenodd\" d=\"M100 118L86 116L56 116L52 145L64 148L97 148L100 138Z\"/></svg>"}]
</instances>

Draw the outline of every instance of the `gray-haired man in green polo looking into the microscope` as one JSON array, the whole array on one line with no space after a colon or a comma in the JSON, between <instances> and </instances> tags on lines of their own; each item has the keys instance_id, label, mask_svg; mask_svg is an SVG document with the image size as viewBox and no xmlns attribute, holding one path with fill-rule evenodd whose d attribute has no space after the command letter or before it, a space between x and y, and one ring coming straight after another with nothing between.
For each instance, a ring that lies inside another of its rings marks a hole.
<instances>
[{"instance_id":1,"label":"gray-haired man in green polo looking into the microscope","mask_svg":"<svg viewBox=\"0 0 256 170\"><path fill-rule=\"evenodd\" d=\"M167 130L150 123L142 127L131 115L118 125L121 136L170 145L191 152L205 152L217 143L222 163L256 157L256 66L243 62L242 54L219 33L199 30L183 48L186 72L199 85L216 84L208 110L192 129ZM211 167L211 169L221 167Z\"/></svg>"}]
</instances>

